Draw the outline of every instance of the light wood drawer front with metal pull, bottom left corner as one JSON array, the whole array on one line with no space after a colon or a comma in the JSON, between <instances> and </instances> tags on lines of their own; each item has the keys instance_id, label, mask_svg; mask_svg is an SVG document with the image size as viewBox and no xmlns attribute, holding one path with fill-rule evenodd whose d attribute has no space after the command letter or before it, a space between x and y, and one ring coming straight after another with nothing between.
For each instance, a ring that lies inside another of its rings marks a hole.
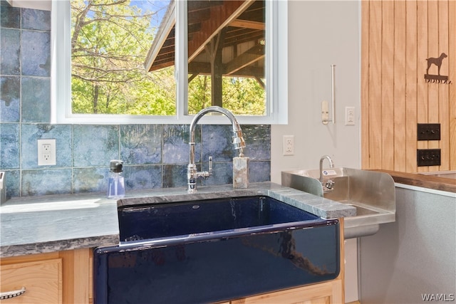
<instances>
[{"instance_id":1,"label":"light wood drawer front with metal pull, bottom left corner","mask_svg":"<svg viewBox=\"0 0 456 304\"><path fill-rule=\"evenodd\" d=\"M0 292L26 288L23 295L1 303L62 303L62 261L14 263L0 266Z\"/></svg>"}]
</instances>

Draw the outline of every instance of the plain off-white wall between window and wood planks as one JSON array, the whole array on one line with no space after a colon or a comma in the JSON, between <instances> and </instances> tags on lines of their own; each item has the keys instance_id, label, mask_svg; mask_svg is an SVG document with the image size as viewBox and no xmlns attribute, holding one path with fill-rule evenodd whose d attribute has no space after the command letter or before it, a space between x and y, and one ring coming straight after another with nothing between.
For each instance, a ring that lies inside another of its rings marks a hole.
<instances>
[{"instance_id":1,"label":"plain off-white wall between window and wood planks","mask_svg":"<svg viewBox=\"0 0 456 304\"><path fill-rule=\"evenodd\" d=\"M323 154L336 167L361 167L359 1L289 1L289 124L271 127L271 181L281 171L316 169ZM321 101L331 115L331 64L336 65L336 124L321 123ZM353 106L356 125L344 125ZM282 136L294 135L294 156L283 156ZM325 163L327 165L327 163Z\"/></svg>"}]
</instances>

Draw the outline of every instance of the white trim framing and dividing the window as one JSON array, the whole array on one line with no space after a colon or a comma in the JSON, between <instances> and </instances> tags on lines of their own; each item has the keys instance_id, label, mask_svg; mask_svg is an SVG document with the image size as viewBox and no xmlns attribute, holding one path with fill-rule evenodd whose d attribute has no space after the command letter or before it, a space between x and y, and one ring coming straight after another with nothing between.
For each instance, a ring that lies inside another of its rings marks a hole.
<instances>
[{"instance_id":1,"label":"white trim framing and dividing the window","mask_svg":"<svg viewBox=\"0 0 456 304\"><path fill-rule=\"evenodd\" d=\"M269 0L266 6L266 105L268 115L237 115L242 125L276 125L288 122L288 1ZM178 43L187 36L186 2L176 3L177 54L187 54L187 43ZM56 124L189 124L193 115L186 115L187 105L187 58L176 56L175 78L177 81L177 115L103 115L71 113L71 12L69 1L52 1L51 10L51 123ZM181 23L185 22L185 23ZM181 39L179 39L179 37ZM181 60L179 60L182 58ZM184 60L185 59L185 60ZM274 73L272 72L274 71ZM269 85L271 84L271 85ZM207 124L227 124L224 117L207 116Z\"/></svg>"}]
</instances>

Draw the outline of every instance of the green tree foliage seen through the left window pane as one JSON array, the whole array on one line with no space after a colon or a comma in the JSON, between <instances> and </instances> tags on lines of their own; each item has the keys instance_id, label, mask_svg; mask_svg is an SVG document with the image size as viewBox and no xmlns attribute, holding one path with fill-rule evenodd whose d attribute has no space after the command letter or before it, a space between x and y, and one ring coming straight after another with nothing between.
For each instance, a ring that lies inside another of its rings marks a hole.
<instances>
[{"instance_id":1,"label":"green tree foliage seen through the left window pane","mask_svg":"<svg viewBox=\"0 0 456 304\"><path fill-rule=\"evenodd\" d=\"M143 67L154 12L129 0L72 0L71 12L73 112L175 115L173 70Z\"/></svg>"}]
</instances>

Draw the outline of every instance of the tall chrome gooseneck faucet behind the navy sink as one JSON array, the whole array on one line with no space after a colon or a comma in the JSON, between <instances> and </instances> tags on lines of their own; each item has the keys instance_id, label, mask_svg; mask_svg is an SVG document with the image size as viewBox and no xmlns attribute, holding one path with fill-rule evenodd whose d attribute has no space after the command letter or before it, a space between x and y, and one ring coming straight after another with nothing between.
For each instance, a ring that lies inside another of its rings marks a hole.
<instances>
[{"instance_id":1,"label":"tall chrome gooseneck faucet behind the navy sink","mask_svg":"<svg viewBox=\"0 0 456 304\"><path fill-rule=\"evenodd\" d=\"M234 149L239 150L239 156L244 156L244 154L243 154L243 149L245 147L244 137L242 137L241 127L239 126L239 123L237 122L236 117L234 117L233 113L230 112L229 110L221 108L217 105L202 109L201 111L198 112L197 115L195 115L195 117L192 120L192 123L190 123L190 142L189 142L190 159L189 159L189 164L187 166L187 187L188 187L187 192L188 193L197 192L197 179L199 177L207 178L212 175L212 157L209 157L209 171L208 172L207 171L197 172L197 166L195 164L195 127L196 127L199 119L209 112L219 112L228 117L229 121L231 121L231 123L232 123L232 128L233 128Z\"/></svg>"}]
</instances>

